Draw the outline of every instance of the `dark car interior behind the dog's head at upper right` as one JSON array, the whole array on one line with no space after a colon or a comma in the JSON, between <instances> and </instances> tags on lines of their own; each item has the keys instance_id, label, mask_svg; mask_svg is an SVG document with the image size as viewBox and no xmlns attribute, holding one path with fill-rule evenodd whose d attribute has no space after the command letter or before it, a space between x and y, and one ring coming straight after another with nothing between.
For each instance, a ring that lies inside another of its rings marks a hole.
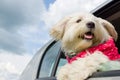
<instances>
[{"instance_id":1,"label":"dark car interior behind the dog's head at upper right","mask_svg":"<svg viewBox=\"0 0 120 80\"><path fill-rule=\"evenodd\" d=\"M120 53L120 1L113 0L108 5L105 5L99 10L93 12L93 14L110 21L115 26L118 33L116 46Z\"/></svg>"}]
</instances>

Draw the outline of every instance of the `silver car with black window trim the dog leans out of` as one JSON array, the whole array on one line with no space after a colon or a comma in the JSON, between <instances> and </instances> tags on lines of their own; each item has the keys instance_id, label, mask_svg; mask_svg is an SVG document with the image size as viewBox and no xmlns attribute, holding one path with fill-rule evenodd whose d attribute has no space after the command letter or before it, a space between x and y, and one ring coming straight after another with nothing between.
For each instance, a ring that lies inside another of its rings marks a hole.
<instances>
[{"instance_id":1,"label":"silver car with black window trim the dog leans out of","mask_svg":"<svg viewBox=\"0 0 120 80\"><path fill-rule=\"evenodd\" d=\"M116 42L120 52L120 0L108 0L95 10L95 16L110 21L118 32ZM20 76L20 80L56 80L59 68L66 63L60 42L51 40L41 48ZM88 80L120 80L120 70L96 72Z\"/></svg>"}]
</instances>

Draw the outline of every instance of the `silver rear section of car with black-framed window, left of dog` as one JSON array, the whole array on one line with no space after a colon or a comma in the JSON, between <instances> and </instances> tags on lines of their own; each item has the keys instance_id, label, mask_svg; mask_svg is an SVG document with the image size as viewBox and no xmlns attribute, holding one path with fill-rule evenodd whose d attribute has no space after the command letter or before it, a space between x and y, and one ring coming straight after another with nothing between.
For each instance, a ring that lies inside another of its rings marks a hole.
<instances>
[{"instance_id":1,"label":"silver rear section of car with black-framed window, left of dog","mask_svg":"<svg viewBox=\"0 0 120 80\"><path fill-rule=\"evenodd\" d=\"M54 77L61 52L60 46L60 42L55 40L46 43L31 59L19 80L46 80Z\"/></svg>"}]
</instances>

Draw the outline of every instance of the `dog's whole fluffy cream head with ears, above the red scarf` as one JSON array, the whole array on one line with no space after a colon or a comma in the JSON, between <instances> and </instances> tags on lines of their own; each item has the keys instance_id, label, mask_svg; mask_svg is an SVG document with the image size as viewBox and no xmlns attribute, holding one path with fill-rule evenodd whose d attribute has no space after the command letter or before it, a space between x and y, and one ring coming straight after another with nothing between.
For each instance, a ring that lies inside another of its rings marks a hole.
<instances>
[{"instance_id":1,"label":"dog's whole fluffy cream head with ears, above the red scarf","mask_svg":"<svg viewBox=\"0 0 120 80\"><path fill-rule=\"evenodd\" d=\"M103 43L110 37L117 39L113 25L92 14L65 17L51 29L50 34L56 40L61 40L66 52L76 53Z\"/></svg>"}]
</instances>

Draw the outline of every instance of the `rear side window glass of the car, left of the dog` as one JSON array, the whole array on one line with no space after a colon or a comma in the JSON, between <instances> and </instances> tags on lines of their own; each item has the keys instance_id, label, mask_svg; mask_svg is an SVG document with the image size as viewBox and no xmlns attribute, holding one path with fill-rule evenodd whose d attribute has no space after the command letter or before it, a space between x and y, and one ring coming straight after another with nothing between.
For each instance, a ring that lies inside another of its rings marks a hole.
<instances>
[{"instance_id":1,"label":"rear side window glass of the car, left of the dog","mask_svg":"<svg viewBox=\"0 0 120 80\"><path fill-rule=\"evenodd\" d=\"M50 48L44 53L39 78L50 77L54 68L55 61L60 51L60 42L50 45Z\"/></svg>"}]
</instances>

